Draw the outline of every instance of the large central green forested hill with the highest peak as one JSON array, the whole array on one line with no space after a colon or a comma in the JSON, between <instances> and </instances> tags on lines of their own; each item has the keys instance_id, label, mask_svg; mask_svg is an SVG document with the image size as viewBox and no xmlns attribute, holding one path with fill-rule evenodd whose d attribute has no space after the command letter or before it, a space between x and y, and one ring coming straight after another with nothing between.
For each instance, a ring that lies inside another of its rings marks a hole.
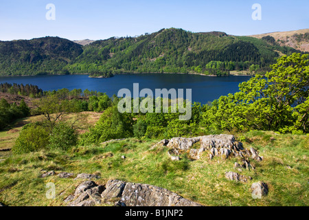
<instances>
[{"instance_id":1,"label":"large central green forested hill with the highest peak","mask_svg":"<svg viewBox=\"0 0 309 220\"><path fill-rule=\"evenodd\" d=\"M68 70L84 73L87 69L99 75L119 72L225 75L231 70L248 70L255 65L254 70L265 72L279 54L293 52L297 50L270 45L262 39L170 28L137 38L95 41L84 47L84 52Z\"/></svg>"}]
</instances>

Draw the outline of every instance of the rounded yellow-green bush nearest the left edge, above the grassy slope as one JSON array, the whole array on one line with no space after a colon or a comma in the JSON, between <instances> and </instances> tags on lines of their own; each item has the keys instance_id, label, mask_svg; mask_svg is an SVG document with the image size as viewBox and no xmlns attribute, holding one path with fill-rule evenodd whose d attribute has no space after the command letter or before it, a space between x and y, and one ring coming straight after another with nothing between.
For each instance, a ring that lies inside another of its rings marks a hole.
<instances>
[{"instance_id":1,"label":"rounded yellow-green bush nearest the left edge, above the grassy slope","mask_svg":"<svg viewBox=\"0 0 309 220\"><path fill-rule=\"evenodd\" d=\"M46 148L48 140L49 133L45 126L30 124L21 130L12 151L17 154L38 151Z\"/></svg>"}]
</instances>

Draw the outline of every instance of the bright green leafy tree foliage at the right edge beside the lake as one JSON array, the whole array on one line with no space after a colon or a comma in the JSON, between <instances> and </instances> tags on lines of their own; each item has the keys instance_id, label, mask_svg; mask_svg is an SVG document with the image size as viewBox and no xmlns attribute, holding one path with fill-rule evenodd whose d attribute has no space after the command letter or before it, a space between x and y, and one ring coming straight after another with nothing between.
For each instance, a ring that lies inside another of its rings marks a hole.
<instances>
[{"instance_id":1,"label":"bright green leafy tree foliage at the right edge beside the lake","mask_svg":"<svg viewBox=\"0 0 309 220\"><path fill-rule=\"evenodd\" d=\"M203 113L203 126L308 133L308 54L282 56L272 69L240 84L236 94L214 100Z\"/></svg>"}]
</instances>

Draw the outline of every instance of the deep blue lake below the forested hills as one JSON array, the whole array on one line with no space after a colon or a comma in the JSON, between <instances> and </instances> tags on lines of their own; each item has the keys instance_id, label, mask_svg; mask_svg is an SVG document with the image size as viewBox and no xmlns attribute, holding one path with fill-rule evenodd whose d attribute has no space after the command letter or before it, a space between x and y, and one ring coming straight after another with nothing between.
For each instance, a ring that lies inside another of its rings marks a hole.
<instances>
[{"instance_id":1,"label":"deep blue lake below the forested hills","mask_svg":"<svg viewBox=\"0 0 309 220\"><path fill-rule=\"evenodd\" d=\"M1 76L0 83L37 85L44 91L62 88L89 89L105 92L108 96L118 93L119 89L130 89L139 83L139 91L152 89L192 89L192 102L205 104L220 96L238 91L238 85L251 76L210 77L194 74L119 74L111 78L89 78L88 75L65 76ZM184 92L185 93L185 92Z\"/></svg>"}]
</instances>

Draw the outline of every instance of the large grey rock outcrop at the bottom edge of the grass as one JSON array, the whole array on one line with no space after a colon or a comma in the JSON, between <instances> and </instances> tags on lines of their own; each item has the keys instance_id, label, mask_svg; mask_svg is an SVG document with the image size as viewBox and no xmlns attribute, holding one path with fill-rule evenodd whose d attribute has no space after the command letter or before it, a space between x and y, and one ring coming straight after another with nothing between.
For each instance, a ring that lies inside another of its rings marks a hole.
<instances>
[{"instance_id":1,"label":"large grey rock outcrop at the bottom edge of the grass","mask_svg":"<svg viewBox=\"0 0 309 220\"><path fill-rule=\"evenodd\" d=\"M134 184L111 179L106 186L84 181L65 203L69 206L95 206L95 203L115 202L115 206L201 206L170 190L148 184Z\"/></svg>"}]
</instances>

